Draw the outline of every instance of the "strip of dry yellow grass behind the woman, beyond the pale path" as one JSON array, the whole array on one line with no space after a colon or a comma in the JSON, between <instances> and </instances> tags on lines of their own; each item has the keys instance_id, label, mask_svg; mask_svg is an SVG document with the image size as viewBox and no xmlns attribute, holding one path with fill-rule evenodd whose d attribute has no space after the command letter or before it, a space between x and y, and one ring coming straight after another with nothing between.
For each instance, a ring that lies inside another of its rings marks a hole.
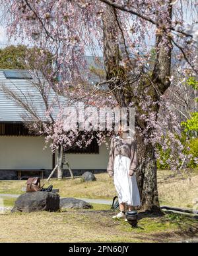
<instances>
[{"instance_id":1,"label":"strip of dry yellow grass behind the woman, beyond the pale path","mask_svg":"<svg viewBox=\"0 0 198 256\"><path fill-rule=\"evenodd\" d=\"M45 186L53 184L59 188L63 197L111 199L117 194L113 179L106 173L96 174L95 182L83 182L81 178L49 180ZM46 181L44 181L46 182ZM176 173L171 170L158 170L158 192L160 204L191 208L197 198L198 202L198 171ZM21 188L26 180L0 181L0 194L22 194Z\"/></svg>"}]
</instances>

